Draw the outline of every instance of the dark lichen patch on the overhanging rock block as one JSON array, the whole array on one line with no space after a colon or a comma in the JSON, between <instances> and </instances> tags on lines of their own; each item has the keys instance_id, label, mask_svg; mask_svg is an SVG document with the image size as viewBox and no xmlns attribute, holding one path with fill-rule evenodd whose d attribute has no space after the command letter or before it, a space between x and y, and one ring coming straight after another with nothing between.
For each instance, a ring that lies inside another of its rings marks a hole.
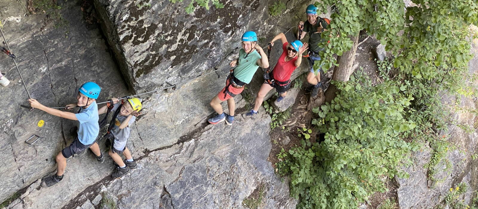
<instances>
[{"instance_id":1,"label":"dark lichen patch on the overhanging rock block","mask_svg":"<svg viewBox=\"0 0 478 209\"><path fill-rule=\"evenodd\" d=\"M136 70L134 76L136 78L146 75L158 69L166 70L178 65L185 65L192 60L214 59L214 50L221 45L220 40L225 35L231 35L238 32L241 26L238 24L240 20L247 20L260 6L259 0L247 0L241 7L234 6L233 1L224 3L224 8L205 10L197 9L194 15L183 15L181 8L169 6L156 7L155 22L157 24L148 24L145 12L146 7L139 8L136 4L147 3L144 0L130 3L128 6L130 16L124 22L134 22L134 25L123 24L121 26L120 36L124 37L120 40L123 47L136 47L140 44L149 43L146 50L140 50L140 54L152 53L153 56L145 56L143 60L133 63L132 68ZM169 2L168 2L169 4ZM190 21L190 20L193 21ZM254 30L251 28L251 30ZM242 31L241 31L242 32ZM181 34L181 37L178 37ZM239 38L238 38L239 40ZM172 51L167 51L172 46L176 47ZM203 50L210 49L210 50ZM138 52L134 53L139 55ZM193 55L197 58L194 58ZM199 58L201 57L201 58ZM180 75L185 75L193 71L194 68L184 66L179 69ZM160 74L166 74L161 72Z\"/></svg>"}]
</instances>

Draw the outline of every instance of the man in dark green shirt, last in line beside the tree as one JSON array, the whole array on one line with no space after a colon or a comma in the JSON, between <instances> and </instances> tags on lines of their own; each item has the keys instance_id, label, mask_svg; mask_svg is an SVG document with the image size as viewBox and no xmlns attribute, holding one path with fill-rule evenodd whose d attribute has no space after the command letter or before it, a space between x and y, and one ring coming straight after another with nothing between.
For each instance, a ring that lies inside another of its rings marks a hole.
<instances>
[{"instance_id":1,"label":"man in dark green shirt, last in line beside the tree","mask_svg":"<svg viewBox=\"0 0 478 209\"><path fill-rule=\"evenodd\" d=\"M297 37L298 40L301 40L305 34L309 34L309 57L307 57L307 60L309 61L310 72L307 74L307 82L314 85L310 95L315 97L322 83L320 83L320 67L317 69L317 73L315 73L314 62L320 60L318 52L324 50L318 44L325 41L320 35L327 28L328 24L324 19L317 16L317 7L314 4L307 6L305 13L307 13L307 21L305 23L303 21L299 22Z\"/></svg>"}]
</instances>

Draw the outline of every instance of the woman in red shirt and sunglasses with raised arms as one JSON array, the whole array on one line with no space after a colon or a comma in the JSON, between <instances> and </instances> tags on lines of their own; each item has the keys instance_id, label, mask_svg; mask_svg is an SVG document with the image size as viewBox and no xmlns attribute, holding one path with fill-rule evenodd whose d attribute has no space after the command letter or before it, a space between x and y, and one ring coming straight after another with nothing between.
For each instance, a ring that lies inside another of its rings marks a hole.
<instances>
[{"instance_id":1,"label":"woman in red shirt and sunglasses with raised arms","mask_svg":"<svg viewBox=\"0 0 478 209\"><path fill-rule=\"evenodd\" d=\"M257 93L254 103L254 109L242 114L244 119L255 118L258 115L259 107L261 107L262 101L264 101L264 96L274 88L277 93L279 93L276 103L280 103L290 88L293 71L302 63L302 53L307 51L308 44L303 44L299 40L289 43L285 35L281 32L272 39L271 46L279 39L282 42L282 54L279 60L277 60L277 64L275 64L272 72L267 72L269 73L269 80L265 80L261 85L261 89Z\"/></svg>"}]
</instances>

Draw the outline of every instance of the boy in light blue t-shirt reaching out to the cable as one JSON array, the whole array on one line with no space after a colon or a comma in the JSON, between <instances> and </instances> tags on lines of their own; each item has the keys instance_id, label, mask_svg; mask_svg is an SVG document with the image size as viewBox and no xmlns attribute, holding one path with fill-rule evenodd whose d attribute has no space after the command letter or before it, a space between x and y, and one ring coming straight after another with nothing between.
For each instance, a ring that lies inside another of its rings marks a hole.
<instances>
[{"instance_id":1,"label":"boy in light blue t-shirt reaching out to the cable","mask_svg":"<svg viewBox=\"0 0 478 209\"><path fill-rule=\"evenodd\" d=\"M70 146L65 147L60 153L58 153L58 155L56 155L56 174L51 177L44 178L42 180L43 187L50 187L63 179L66 168L66 158L76 156L85 151L87 148L91 149L98 162L104 162L105 159L99 150L98 143L96 143L99 133L98 105L96 104L96 99L98 99L100 92L101 88L98 86L98 84L93 82L87 82L81 85L81 87L78 89L78 95L76 96L76 104L66 105L66 109L72 109L79 106L80 111L77 114L46 107L35 99L28 100L30 102L30 106L35 109L45 111L51 115L70 120L76 120L79 122L77 131L78 136L76 137L75 141L70 144Z\"/></svg>"}]
</instances>

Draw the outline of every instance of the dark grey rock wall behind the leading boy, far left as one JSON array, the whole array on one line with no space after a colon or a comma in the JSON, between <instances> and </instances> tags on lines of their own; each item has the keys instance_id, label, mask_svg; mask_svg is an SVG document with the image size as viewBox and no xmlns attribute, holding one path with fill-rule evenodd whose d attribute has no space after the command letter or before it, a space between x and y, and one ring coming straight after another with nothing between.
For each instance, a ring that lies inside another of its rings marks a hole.
<instances>
[{"instance_id":1,"label":"dark grey rock wall behind the leading boy, far left","mask_svg":"<svg viewBox=\"0 0 478 209\"><path fill-rule=\"evenodd\" d=\"M2 0L0 20L33 98L46 106L64 106L76 100L76 89L87 81L103 88L101 100L128 94L99 28L82 21L75 2L61 2L60 12L70 22L67 28L55 28L54 20L43 13L25 16L26 3ZM9 86L0 87L1 202L54 168L54 156L73 141L70 128L76 123L20 107L28 105L28 97L11 58L3 53L0 69L11 80ZM43 127L37 125L40 120ZM42 138L33 146L25 144L33 134Z\"/></svg>"}]
</instances>

